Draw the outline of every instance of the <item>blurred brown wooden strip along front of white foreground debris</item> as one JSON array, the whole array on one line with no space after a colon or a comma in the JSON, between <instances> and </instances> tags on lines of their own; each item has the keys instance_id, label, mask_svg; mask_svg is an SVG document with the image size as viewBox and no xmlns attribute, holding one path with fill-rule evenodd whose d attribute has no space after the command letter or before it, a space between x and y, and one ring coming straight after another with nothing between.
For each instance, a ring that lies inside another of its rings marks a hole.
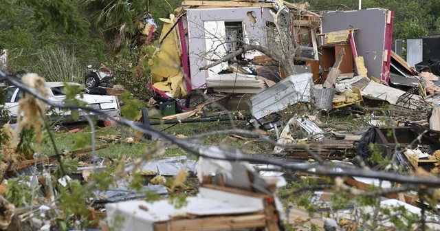
<instances>
[{"instance_id":1,"label":"blurred brown wooden strip along front of white foreground debris","mask_svg":"<svg viewBox=\"0 0 440 231\"><path fill-rule=\"evenodd\" d=\"M265 214L244 216L206 217L159 222L154 224L155 231L181 230L231 230L243 228L263 228L266 225Z\"/></svg>"}]
</instances>

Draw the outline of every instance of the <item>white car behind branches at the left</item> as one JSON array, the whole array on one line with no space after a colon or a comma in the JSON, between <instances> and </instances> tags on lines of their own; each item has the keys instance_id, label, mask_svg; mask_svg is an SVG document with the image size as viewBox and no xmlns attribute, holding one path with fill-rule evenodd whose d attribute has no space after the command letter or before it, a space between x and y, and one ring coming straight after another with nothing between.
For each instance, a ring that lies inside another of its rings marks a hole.
<instances>
[{"instance_id":1,"label":"white car behind branches at the left","mask_svg":"<svg viewBox=\"0 0 440 231\"><path fill-rule=\"evenodd\" d=\"M80 86L78 83L67 83L67 85L76 85ZM53 102L58 104L63 104L65 100L65 94L63 93L63 82L47 82L46 83L48 91L47 98ZM10 118L0 118L0 120L8 121L8 120L16 120L18 111L19 111L19 100L21 96L23 96L23 90L18 87L7 87L4 89L7 91L7 99L5 103L5 109L8 111L8 115ZM80 96L76 97L78 100L83 100L83 102L87 103L86 107L92 107L94 109L101 110L106 113L109 117L117 117L120 115L120 104L118 98L116 96L100 96L100 95L91 95L91 94L83 94L83 98ZM87 121L84 117L85 114L90 115L92 118L96 118L99 120L105 120L106 118L102 118L100 115L95 115L91 112L80 111L80 118L78 120L74 120L72 118L70 111L62 111L61 109L55 109L55 113L49 112L47 116L51 121L61 121L61 122L77 122L77 121ZM61 116L61 118L60 118Z\"/></svg>"}]
</instances>

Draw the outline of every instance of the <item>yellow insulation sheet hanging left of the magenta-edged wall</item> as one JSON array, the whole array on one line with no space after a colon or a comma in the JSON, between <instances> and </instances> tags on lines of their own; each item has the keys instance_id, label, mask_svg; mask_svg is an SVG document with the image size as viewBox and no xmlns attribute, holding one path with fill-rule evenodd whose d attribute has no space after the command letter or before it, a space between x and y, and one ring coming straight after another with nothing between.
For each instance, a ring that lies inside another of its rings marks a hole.
<instances>
[{"instance_id":1,"label":"yellow insulation sheet hanging left of the magenta-edged wall","mask_svg":"<svg viewBox=\"0 0 440 231\"><path fill-rule=\"evenodd\" d=\"M148 61L153 75L153 86L160 91L171 91L172 98L186 96L186 88L181 86L185 85L181 72L181 39L176 27L168 34L177 20L173 14L170 14L170 19L160 20L164 22L164 26L159 41L163 39L163 42Z\"/></svg>"}]
</instances>

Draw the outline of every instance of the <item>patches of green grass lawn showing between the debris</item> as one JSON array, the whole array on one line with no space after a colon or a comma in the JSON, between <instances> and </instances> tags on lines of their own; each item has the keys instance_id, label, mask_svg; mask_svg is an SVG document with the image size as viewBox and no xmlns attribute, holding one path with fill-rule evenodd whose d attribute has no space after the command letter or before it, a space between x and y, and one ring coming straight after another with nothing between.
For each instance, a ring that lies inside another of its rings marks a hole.
<instances>
[{"instance_id":1,"label":"patches of green grass lawn showing between the debris","mask_svg":"<svg viewBox=\"0 0 440 231\"><path fill-rule=\"evenodd\" d=\"M158 130L164 130L168 128L170 125L158 125L153 126L153 128ZM239 121L236 122L236 126L239 128L243 128L245 126L245 122ZM164 133L168 135L185 135L189 137L191 135L197 135L201 133L206 133L209 131L221 131L232 129L232 125L230 122L199 122L199 123L188 123L188 124L177 124L175 126L170 127L169 129L164 130ZM133 130L130 130L133 132ZM83 137L83 142L86 142L87 145L81 148L91 147L91 133L90 129L83 129L79 133L53 133L56 141L56 146L59 151L67 150L74 151L76 149L76 142L78 141L78 137ZM98 140L100 136L107 135L120 135L120 142L112 143L108 148L104 148L96 151L96 155L100 157L109 157L111 159L120 159L122 155L126 154L127 157L140 157L148 151L148 148L151 148L157 141L149 141L142 142L142 144L129 144L124 142L126 137L133 137L132 133L126 133L122 129L119 128L98 128L96 130L96 146L100 146L102 144L107 144L108 142L104 142L102 140ZM49 142L49 139L45 139L47 142L43 144L42 153L47 155L54 154L54 148ZM226 144L237 146L243 149L248 153L257 153L263 152L265 148L270 148L269 145L255 145L255 143L250 142L250 144L245 145L245 141L230 139L225 135L219 135L216 137L206 137L202 140L202 144L216 144L219 142L226 142ZM163 156L177 156L177 155L187 155L187 153L180 148L176 147L168 147ZM90 153L87 155L90 157ZM155 156L159 157L159 156ZM86 158L87 159L87 158Z\"/></svg>"}]
</instances>

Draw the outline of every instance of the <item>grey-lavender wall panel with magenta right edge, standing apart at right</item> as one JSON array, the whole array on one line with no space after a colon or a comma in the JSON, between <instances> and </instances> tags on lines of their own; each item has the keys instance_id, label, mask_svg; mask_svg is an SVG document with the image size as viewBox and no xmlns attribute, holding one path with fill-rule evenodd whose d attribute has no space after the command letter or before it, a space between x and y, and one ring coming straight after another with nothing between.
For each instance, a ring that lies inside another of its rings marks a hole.
<instances>
[{"instance_id":1,"label":"grey-lavender wall panel with magenta right edge, standing apart at right","mask_svg":"<svg viewBox=\"0 0 440 231\"><path fill-rule=\"evenodd\" d=\"M358 56L364 57L368 77L388 80L393 33L392 13L378 8L327 12L322 15L322 33L359 28L355 32L356 48Z\"/></svg>"}]
</instances>

